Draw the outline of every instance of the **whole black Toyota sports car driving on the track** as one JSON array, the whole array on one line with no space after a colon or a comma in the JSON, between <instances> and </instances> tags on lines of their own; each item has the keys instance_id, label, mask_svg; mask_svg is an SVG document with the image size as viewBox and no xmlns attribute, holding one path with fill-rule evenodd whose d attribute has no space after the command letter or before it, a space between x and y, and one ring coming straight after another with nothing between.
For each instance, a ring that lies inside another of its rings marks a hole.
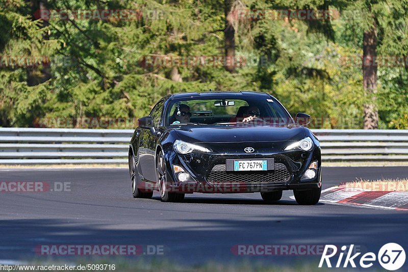
<instances>
[{"instance_id":1,"label":"whole black Toyota sports car driving on the track","mask_svg":"<svg viewBox=\"0 0 408 272\"><path fill-rule=\"evenodd\" d=\"M293 190L314 205L321 192L316 136L275 97L260 92L191 92L163 97L138 120L129 145L134 197L177 202L185 193L261 192L278 201Z\"/></svg>"}]
</instances>

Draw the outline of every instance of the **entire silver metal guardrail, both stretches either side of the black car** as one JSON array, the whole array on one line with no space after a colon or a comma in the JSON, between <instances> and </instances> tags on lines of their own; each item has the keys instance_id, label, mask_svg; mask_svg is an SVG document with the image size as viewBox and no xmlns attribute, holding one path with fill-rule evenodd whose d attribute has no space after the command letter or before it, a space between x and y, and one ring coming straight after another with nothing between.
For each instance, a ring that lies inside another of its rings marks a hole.
<instances>
[{"instance_id":1,"label":"entire silver metal guardrail, both stretches either side of the black car","mask_svg":"<svg viewBox=\"0 0 408 272\"><path fill-rule=\"evenodd\" d=\"M313 130L324 161L408 161L408 130ZM0 164L127 163L133 130L0 128Z\"/></svg>"}]
</instances>

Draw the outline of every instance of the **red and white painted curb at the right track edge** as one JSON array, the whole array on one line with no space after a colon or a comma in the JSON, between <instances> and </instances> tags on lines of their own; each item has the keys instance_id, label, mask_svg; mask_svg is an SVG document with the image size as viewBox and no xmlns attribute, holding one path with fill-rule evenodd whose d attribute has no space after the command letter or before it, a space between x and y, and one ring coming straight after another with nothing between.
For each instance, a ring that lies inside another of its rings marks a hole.
<instances>
[{"instance_id":1,"label":"red and white painted curb at the right track edge","mask_svg":"<svg viewBox=\"0 0 408 272\"><path fill-rule=\"evenodd\" d=\"M335 186L322 191L320 202L408 211L408 191L365 191Z\"/></svg>"}]
</instances>

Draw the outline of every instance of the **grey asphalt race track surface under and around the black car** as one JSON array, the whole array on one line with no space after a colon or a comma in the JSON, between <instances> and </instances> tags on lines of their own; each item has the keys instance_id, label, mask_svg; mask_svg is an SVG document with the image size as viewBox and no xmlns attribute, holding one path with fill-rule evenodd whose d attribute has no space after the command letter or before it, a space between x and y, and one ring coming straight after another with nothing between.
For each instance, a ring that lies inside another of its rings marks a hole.
<instances>
[{"instance_id":1,"label":"grey asphalt race track surface under and around the black car","mask_svg":"<svg viewBox=\"0 0 408 272\"><path fill-rule=\"evenodd\" d=\"M325 167L323 189L356 179L407 178L408 167ZM319 203L299 206L285 191L265 204L259 193L187 194L184 203L133 199L127 169L4 169L0 181L69 182L71 191L1 192L0 260L46 258L39 244L164 245L182 263L290 263L316 256L235 256L239 244L356 244L408 250L408 213ZM65 257L66 258L66 257ZM139 258L139 257L129 257ZM405 266L406 268L406 266Z\"/></svg>"}]
</instances>

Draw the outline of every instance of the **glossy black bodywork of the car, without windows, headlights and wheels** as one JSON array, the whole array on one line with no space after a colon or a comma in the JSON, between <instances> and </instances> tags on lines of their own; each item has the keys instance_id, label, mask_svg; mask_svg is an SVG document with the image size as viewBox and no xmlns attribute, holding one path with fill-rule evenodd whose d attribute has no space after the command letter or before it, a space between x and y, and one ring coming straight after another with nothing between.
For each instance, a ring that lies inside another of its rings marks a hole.
<instances>
[{"instance_id":1,"label":"glossy black bodywork of the car, without windows, headlights and wheels","mask_svg":"<svg viewBox=\"0 0 408 272\"><path fill-rule=\"evenodd\" d=\"M155 128L137 128L130 142L129 152L133 153L135 158L141 190L157 189L156 155L159 151L162 151L165 157L167 180L173 191L269 192L321 186L319 141L308 128L296 125L293 120L285 126L165 126L163 116L168 113L174 101L197 96L249 99L268 97L279 103L269 94L256 92L183 93L163 97L149 115L153 119L156 118ZM290 143L305 137L310 137L314 143L311 151L284 150ZM173 148L175 140L199 144L210 152L179 154ZM246 153L245 147L252 147L254 151ZM227 171L226 163L231 159L273 159L274 170ZM316 177L311 180L302 179L312 162L317 162ZM188 180L179 181L173 171L173 165L183 167L189 174Z\"/></svg>"}]
</instances>

